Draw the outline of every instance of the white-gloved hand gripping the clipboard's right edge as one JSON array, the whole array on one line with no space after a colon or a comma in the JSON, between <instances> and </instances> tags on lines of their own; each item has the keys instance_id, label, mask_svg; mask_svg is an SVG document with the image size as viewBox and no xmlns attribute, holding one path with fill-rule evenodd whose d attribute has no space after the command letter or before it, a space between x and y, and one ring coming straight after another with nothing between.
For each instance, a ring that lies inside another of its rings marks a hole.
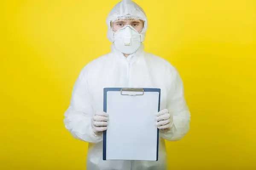
<instances>
[{"instance_id":1,"label":"white-gloved hand gripping the clipboard's right edge","mask_svg":"<svg viewBox=\"0 0 256 170\"><path fill-rule=\"evenodd\" d=\"M173 119L172 114L167 109L163 109L157 113L157 128L161 132L167 132L172 129Z\"/></svg>"}]
</instances>

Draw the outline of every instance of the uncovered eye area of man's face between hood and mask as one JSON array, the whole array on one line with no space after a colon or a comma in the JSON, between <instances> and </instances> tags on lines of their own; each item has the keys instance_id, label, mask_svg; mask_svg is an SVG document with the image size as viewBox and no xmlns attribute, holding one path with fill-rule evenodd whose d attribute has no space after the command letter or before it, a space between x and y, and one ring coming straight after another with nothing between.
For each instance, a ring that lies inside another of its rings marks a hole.
<instances>
[{"instance_id":1,"label":"uncovered eye area of man's face between hood and mask","mask_svg":"<svg viewBox=\"0 0 256 170\"><path fill-rule=\"evenodd\" d=\"M136 29L138 32L140 32L144 27L144 21L143 20L135 20L135 19L129 19L129 20L116 20L111 23L111 26L113 28L113 31L116 32L119 29L123 28L129 24L134 29Z\"/></svg>"}]
</instances>

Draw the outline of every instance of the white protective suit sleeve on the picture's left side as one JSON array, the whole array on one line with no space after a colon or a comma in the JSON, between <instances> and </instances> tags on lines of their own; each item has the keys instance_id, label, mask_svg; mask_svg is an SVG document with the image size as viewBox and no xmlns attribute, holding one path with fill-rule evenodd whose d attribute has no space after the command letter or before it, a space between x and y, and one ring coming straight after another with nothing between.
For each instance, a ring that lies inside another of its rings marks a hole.
<instances>
[{"instance_id":1,"label":"white protective suit sleeve on the picture's left side","mask_svg":"<svg viewBox=\"0 0 256 170\"><path fill-rule=\"evenodd\" d=\"M93 108L90 104L86 75L84 68L73 87L70 105L64 113L64 125L74 138L98 143L102 141L102 136L96 136L91 127Z\"/></svg>"}]
</instances>

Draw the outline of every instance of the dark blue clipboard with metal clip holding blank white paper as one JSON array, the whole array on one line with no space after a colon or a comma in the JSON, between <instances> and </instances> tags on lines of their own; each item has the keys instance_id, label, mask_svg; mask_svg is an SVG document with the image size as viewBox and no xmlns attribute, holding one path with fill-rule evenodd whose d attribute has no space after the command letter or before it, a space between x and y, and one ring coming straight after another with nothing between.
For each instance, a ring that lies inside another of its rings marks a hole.
<instances>
[{"instance_id":1,"label":"dark blue clipboard with metal clip holding blank white paper","mask_svg":"<svg viewBox=\"0 0 256 170\"><path fill-rule=\"evenodd\" d=\"M103 160L157 161L160 88L104 88Z\"/></svg>"}]
</instances>

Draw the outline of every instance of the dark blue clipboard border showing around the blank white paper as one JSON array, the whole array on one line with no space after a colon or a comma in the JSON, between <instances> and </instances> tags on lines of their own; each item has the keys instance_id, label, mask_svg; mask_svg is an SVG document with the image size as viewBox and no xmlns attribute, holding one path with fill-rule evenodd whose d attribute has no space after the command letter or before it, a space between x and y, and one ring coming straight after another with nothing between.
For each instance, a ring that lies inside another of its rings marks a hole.
<instances>
[{"instance_id":1,"label":"dark blue clipboard border showing around the blank white paper","mask_svg":"<svg viewBox=\"0 0 256 170\"><path fill-rule=\"evenodd\" d=\"M108 91L121 91L122 88L104 88L103 92L103 111L107 112L107 93ZM158 112L160 111L160 99L161 99L161 89L160 88L143 88L145 92L158 92L159 101L158 101ZM107 130L103 131L103 160L106 159L106 149L107 149ZM159 150L159 129L157 128L157 160L158 161L158 150Z\"/></svg>"}]
</instances>

